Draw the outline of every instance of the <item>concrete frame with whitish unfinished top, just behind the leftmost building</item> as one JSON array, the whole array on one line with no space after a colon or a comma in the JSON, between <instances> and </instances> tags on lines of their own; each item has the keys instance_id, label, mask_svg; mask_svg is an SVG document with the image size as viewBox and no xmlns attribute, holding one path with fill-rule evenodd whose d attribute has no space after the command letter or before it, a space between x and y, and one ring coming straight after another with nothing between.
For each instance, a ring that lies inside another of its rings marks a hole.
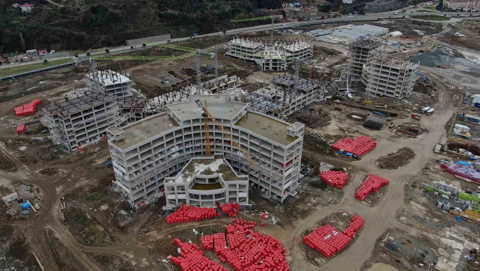
<instances>
[{"instance_id":1,"label":"concrete frame with whitish unfinished top, just behind the leftmost building","mask_svg":"<svg viewBox=\"0 0 480 271\"><path fill-rule=\"evenodd\" d=\"M83 81L86 83L88 90L111 95L116 99L125 99L133 95L144 98L143 94L132 88L135 82L115 71L95 71L93 74L89 72L85 74Z\"/></svg>"}]
</instances>

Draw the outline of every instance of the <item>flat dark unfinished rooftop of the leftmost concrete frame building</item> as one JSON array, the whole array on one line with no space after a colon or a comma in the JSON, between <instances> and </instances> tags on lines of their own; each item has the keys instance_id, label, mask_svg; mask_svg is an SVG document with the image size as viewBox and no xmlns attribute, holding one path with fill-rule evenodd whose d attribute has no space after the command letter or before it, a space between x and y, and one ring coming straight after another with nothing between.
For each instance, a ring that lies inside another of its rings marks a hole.
<instances>
[{"instance_id":1,"label":"flat dark unfinished rooftop of the leftmost concrete frame building","mask_svg":"<svg viewBox=\"0 0 480 271\"><path fill-rule=\"evenodd\" d=\"M66 100L52 106L44 107L43 111L49 116L61 115L67 117L68 115L100 106L113 100L115 100L115 98L109 95L89 93L72 100Z\"/></svg>"}]
</instances>

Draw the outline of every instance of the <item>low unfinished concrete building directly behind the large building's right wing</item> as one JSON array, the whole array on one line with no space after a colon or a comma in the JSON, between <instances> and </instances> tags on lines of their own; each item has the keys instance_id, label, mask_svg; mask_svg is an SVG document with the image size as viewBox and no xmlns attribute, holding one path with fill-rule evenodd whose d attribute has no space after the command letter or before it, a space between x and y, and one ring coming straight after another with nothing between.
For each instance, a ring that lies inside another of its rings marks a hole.
<instances>
[{"instance_id":1,"label":"low unfinished concrete building directly behind the large building's right wing","mask_svg":"<svg viewBox=\"0 0 480 271\"><path fill-rule=\"evenodd\" d=\"M250 105L250 110L284 118L313 102L322 101L324 88L316 81L300 79L295 89L295 78L282 75L274 78L271 84L244 96L241 101Z\"/></svg>"}]
</instances>

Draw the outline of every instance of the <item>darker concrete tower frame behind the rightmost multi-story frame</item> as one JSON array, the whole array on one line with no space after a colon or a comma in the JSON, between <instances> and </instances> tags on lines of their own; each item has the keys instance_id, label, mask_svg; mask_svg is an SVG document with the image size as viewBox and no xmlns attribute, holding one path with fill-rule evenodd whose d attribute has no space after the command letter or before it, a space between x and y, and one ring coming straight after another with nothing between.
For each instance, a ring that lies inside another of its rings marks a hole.
<instances>
[{"instance_id":1,"label":"darker concrete tower frame behind the rightmost multi-story frame","mask_svg":"<svg viewBox=\"0 0 480 271\"><path fill-rule=\"evenodd\" d=\"M363 65L369 63L382 49L382 43L360 39L348 46L347 73L361 76Z\"/></svg>"}]
</instances>

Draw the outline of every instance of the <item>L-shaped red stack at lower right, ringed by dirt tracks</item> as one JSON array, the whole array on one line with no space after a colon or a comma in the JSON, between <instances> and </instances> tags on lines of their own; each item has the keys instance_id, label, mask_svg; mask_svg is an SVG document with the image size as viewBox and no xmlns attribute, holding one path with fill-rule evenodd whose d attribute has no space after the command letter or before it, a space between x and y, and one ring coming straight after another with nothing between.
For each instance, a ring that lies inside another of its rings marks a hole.
<instances>
[{"instance_id":1,"label":"L-shaped red stack at lower right, ringed by dirt tracks","mask_svg":"<svg viewBox=\"0 0 480 271\"><path fill-rule=\"evenodd\" d=\"M330 258L342 248L347 247L353 236L350 236L350 233L355 230L354 234L356 234L361 228L361 225L360 227L358 226L360 220L361 225L363 225L363 219L361 216L355 215L352 222L343 233L336 230L330 224L320 226L315 231L304 236L303 242L312 249L322 253L326 258Z\"/></svg>"}]
</instances>

